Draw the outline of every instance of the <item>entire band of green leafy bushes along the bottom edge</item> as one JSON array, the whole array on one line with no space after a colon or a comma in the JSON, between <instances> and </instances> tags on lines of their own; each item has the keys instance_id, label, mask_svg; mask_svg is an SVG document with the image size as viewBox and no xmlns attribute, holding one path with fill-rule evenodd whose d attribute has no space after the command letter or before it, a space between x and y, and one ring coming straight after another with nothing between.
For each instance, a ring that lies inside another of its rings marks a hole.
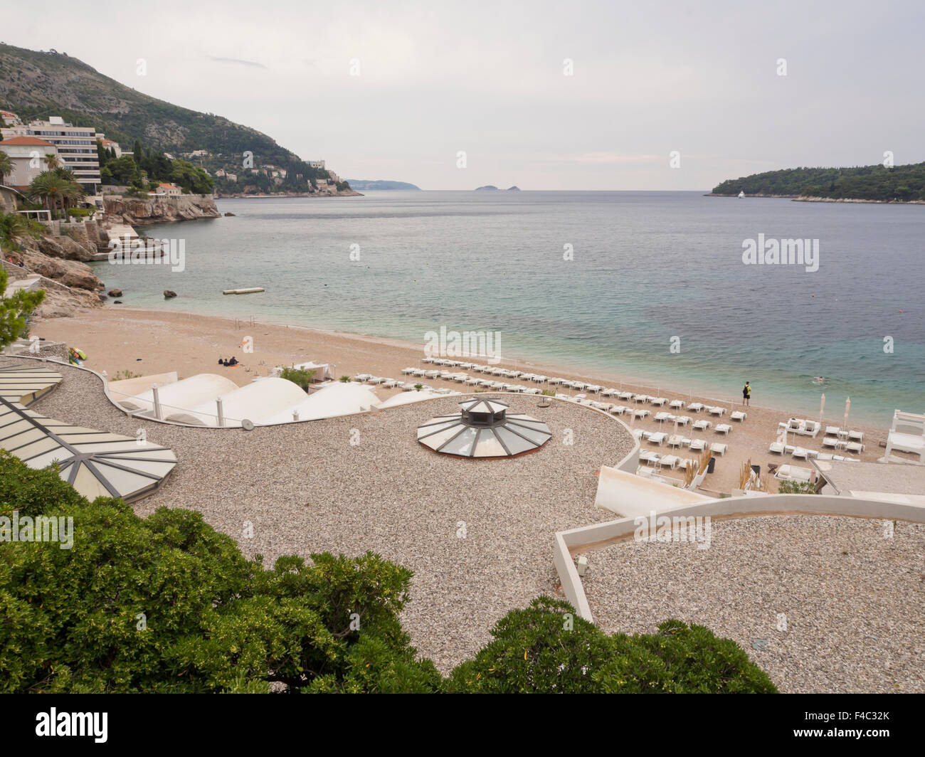
<instances>
[{"instance_id":1,"label":"entire band of green leafy bushes along the bottom edge","mask_svg":"<svg viewBox=\"0 0 925 757\"><path fill-rule=\"evenodd\" d=\"M411 571L371 552L264 569L197 512L89 503L0 451L0 518L14 511L73 517L74 534L0 541L0 692L776 690L706 628L607 636L547 597L441 679L399 621Z\"/></svg>"}]
</instances>

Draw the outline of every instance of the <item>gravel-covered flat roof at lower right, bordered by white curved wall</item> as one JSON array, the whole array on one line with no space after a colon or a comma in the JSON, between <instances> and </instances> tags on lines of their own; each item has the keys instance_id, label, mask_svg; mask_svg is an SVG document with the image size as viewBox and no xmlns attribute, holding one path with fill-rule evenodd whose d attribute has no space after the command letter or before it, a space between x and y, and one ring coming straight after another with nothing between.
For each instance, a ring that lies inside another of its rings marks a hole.
<instances>
[{"instance_id":1,"label":"gravel-covered flat roof at lower right, bordered by white curved wall","mask_svg":"<svg viewBox=\"0 0 925 757\"><path fill-rule=\"evenodd\" d=\"M670 617L737 641L787 692L925 692L925 526L826 515L714 520L709 549L624 540L588 554L608 633ZM783 613L786 630L778 630Z\"/></svg>"}]
</instances>

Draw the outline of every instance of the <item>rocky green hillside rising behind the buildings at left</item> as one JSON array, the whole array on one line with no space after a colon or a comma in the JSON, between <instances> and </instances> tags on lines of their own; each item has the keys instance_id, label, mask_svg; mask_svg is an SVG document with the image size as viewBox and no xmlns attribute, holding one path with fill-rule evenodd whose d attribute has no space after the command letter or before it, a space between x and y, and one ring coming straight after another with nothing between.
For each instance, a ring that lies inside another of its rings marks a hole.
<instances>
[{"instance_id":1,"label":"rocky green hillside rising behind the buildings at left","mask_svg":"<svg viewBox=\"0 0 925 757\"><path fill-rule=\"evenodd\" d=\"M275 191L305 191L309 181L328 178L326 170L309 167L260 131L158 100L64 53L0 44L0 107L24 121L56 115L77 126L94 126L127 150L136 140L178 157L207 150L213 166L238 169L243 153L251 151L254 167L286 170Z\"/></svg>"}]
</instances>

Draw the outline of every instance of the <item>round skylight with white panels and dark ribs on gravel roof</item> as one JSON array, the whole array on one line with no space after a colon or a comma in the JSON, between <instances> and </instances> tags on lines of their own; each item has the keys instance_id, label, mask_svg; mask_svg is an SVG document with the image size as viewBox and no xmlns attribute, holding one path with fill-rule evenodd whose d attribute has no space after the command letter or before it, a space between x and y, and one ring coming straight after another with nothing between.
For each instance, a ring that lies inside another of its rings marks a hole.
<instances>
[{"instance_id":1,"label":"round skylight with white panels and dark ribs on gravel roof","mask_svg":"<svg viewBox=\"0 0 925 757\"><path fill-rule=\"evenodd\" d=\"M417 429L417 441L457 457L516 457L542 447L552 434L541 420L508 413L499 400L465 400L462 412L431 418Z\"/></svg>"}]
</instances>

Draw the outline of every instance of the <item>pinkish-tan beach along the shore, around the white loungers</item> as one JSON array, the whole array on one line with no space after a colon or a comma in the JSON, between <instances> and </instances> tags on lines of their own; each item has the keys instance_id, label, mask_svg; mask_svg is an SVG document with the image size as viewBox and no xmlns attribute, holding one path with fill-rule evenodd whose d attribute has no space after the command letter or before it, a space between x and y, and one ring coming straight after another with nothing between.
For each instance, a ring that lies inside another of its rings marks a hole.
<instances>
[{"instance_id":1,"label":"pinkish-tan beach along the shore, around the white loungers","mask_svg":"<svg viewBox=\"0 0 925 757\"><path fill-rule=\"evenodd\" d=\"M140 375L177 371L179 378L187 378L197 373L218 373L228 376L239 385L244 385L257 376L269 375L274 366L309 360L332 364L337 377L370 373L401 379L406 378L401 376L402 368L422 366L421 359L425 356L422 345L398 340L258 322L252 325L251 321L236 321L233 318L124 307L105 307L74 317L40 321L36 323L32 333L47 340L66 341L70 346L80 347L87 354L86 366L97 371L105 370L110 379L116 378L118 372L126 370ZM241 346L244 338L248 336L253 338L253 354L243 353ZM228 368L218 365L219 357L228 358L232 355L240 361L240 366ZM521 370L528 366L531 372L550 377L581 380L604 387L618 386L613 377L582 375L562 366L542 366L523 362L514 366L507 361L502 361L500 366L518 367ZM419 380L435 388L447 387L456 391L462 389L460 384L452 381ZM542 386L548 387L545 384ZM728 397L723 399L679 394L661 387L638 384L623 383L622 389L664 396L670 400L693 400L711 405L722 404L732 410L746 410L747 418L742 422L728 420L728 413L722 421L715 417L710 418L714 427L720 422L731 425L733 431L728 435L718 434L712 428L706 431L694 431L690 427L679 429L679 432L687 437L703 439L708 443L720 441L729 445L727 453L717 458L716 472L705 480L703 490L728 493L737 488L740 466L747 460L750 460L752 465L761 465L762 475L767 471L768 464L789 463L808 467L805 461L794 460L789 455L782 457L780 454L768 452L769 444L777 438L777 424L791 416L785 409L759 406L743 408L741 399L731 401ZM376 387L376 393L382 398L396 391ZM755 392L759 391L760 387L756 387ZM608 400L604 397L598 398L594 394L589 396L601 401ZM842 408L835 409L838 411ZM707 417L705 413L688 415L695 420ZM672 424L664 424L665 428L662 428L662 424L654 421L651 416L632 422L628 416L623 416L623 419L633 428L672 432ZM843 420L842 417L827 416L823 422L841 426ZM853 424L849 417L849 428L864 431L866 449L857 455L861 460L873 462L882 456L880 444L886 439L885 427L870 428ZM815 439L806 436L795 439L791 435L788 443L822 451L822 437L822 433ZM643 447L668 453L667 447L664 446L657 447L643 442ZM683 457L685 453L679 455ZM694 456L694 453L687 452L686 456ZM618 461L613 459L600 462L602 465L613 465ZM668 475L680 478L682 474L668 471ZM770 480L771 490L774 490L774 480Z\"/></svg>"}]
</instances>

